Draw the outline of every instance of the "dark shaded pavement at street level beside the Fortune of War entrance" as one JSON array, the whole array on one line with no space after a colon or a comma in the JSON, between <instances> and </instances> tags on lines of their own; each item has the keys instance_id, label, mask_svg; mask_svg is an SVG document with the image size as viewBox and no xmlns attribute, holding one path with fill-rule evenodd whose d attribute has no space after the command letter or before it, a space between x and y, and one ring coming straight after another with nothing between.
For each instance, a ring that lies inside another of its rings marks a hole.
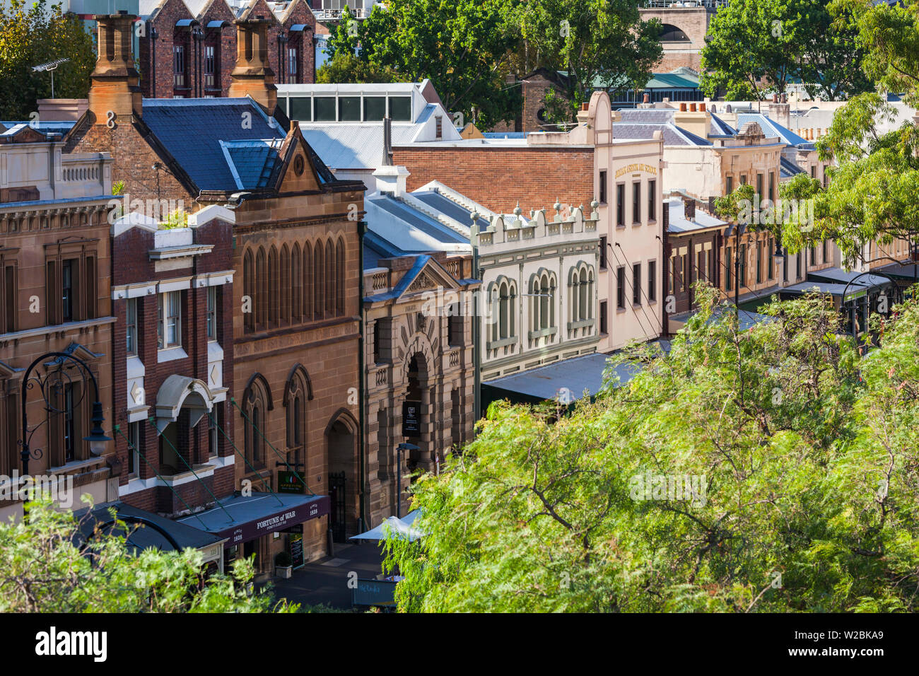
<instances>
[{"instance_id":1,"label":"dark shaded pavement at street level beside the Fortune of War entrance","mask_svg":"<svg viewBox=\"0 0 919 676\"><path fill-rule=\"evenodd\" d=\"M348 573L354 571L360 579L375 578L382 572L382 560L379 543L335 543L333 556L317 559L294 570L289 579L272 579L272 592L275 598L289 602L324 604L351 610Z\"/></svg>"}]
</instances>

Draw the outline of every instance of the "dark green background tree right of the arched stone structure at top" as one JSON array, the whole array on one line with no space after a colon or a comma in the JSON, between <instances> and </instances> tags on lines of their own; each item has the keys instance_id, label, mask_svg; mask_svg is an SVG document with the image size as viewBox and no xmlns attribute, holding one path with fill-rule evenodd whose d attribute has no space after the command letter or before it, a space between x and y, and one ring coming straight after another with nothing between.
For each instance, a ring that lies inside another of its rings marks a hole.
<instances>
[{"instance_id":1,"label":"dark green background tree right of the arched stone structure at top","mask_svg":"<svg viewBox=\"0 0 919 676\"><path fill-rule=\"evenodd\" d=\"M732 0L711 20L700 85L729 99L782 93L793 77L811 97L837 100L867 91L862 50L848 10L830 0Z\"/></svg>"}]
</instances>

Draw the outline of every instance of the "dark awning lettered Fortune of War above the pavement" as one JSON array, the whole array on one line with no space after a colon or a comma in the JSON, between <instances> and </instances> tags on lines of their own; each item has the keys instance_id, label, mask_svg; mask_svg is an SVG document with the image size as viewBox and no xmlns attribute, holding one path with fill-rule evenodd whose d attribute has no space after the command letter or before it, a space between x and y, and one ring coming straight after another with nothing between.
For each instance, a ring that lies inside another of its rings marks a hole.
<instances>
[{"instance_id":1,"label":"dark awning lettered Fortune of War above the pavement","mask_svg":"<svg viewBox=\"0 0 919 676\"><path fill-rule=\"evenodd\" d=\"M227 538L226 546L231 547L328 513L328 496L253 493L223 498L217 507L178 522L193 528L206 528L208 533Z\"/></svg>"}]
</instances>

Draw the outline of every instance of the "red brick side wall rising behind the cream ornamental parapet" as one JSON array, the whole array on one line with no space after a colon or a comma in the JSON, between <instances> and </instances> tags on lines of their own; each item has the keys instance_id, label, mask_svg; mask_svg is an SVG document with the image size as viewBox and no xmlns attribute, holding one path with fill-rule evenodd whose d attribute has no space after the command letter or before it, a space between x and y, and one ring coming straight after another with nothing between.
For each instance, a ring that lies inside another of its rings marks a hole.
<instances>
[{"instance_id":1,"label":"red brick side wall rising behind the cream ornamental parapet","mask_svg":"<svg viewBox=\"0 0 919 676\"><path fill-rule=\"evenodd\" d=\"M395 165L411 172L408 189L439 180L494 212L516 207L550 209L562 204L587 207L594 199L592 148L430 147L392 149Z\"/></svg>"}]
</instances>

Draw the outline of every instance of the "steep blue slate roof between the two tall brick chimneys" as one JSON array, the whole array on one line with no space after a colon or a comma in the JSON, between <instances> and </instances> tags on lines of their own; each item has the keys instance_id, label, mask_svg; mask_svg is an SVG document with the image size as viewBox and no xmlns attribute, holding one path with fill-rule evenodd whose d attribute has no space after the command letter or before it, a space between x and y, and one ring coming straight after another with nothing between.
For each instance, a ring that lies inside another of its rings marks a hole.
<instances>
[{"instance_id":1,"label":"steep blue slate roof between the two tall brick chimneys","mask_svg":"<svg viewBox=\"0 0 919 676\"><path fill-rule=\"evenodd\" d=\"M233 176L237 158L244 187L257 187L267 170L268 147L272 140L285 136L278 122L249 98L145 98L143 121L202 190L240 189ZM244 150L246 146L231 143L233 152L228 158L221 142L239 141L261 145L250 153Z\"/></svg>"}]
</instances>

